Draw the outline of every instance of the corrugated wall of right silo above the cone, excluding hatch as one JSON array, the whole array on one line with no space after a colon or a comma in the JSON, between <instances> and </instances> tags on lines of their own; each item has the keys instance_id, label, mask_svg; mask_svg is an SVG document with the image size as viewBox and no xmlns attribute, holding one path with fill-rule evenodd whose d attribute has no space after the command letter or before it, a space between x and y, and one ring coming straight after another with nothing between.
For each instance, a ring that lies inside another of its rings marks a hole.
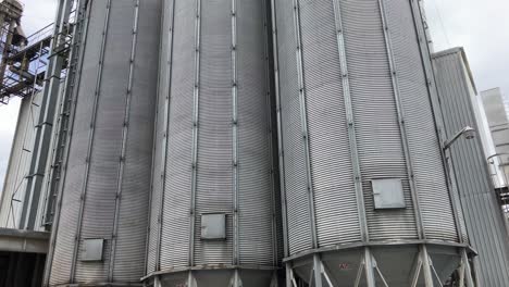
<instances>
[{"instance_id":1,"label":"corrugated wall of right silo above the cone, excluding hatch","mask_svg":"<svg viewBox=\"0 0 509 287\"><path fill-rule=\"evenodd\" d=\"M412 9L381 1L275 1L290 254L311 248L312 217L316 247L361 240L357 157L370 240L418 238L405 142L426 238L458 240ZM370 180L377 178L402 180L407 209L374 211Z\"/></svg>"}]
</instances>

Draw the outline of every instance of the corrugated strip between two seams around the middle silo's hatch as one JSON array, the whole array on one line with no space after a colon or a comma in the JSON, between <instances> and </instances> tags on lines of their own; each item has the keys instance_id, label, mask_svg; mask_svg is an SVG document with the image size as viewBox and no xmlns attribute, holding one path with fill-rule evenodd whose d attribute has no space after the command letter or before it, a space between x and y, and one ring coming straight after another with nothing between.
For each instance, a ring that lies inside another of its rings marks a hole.
<instances>
[{"instance_id":1,"label":"corrugated strip between two seams around the middle silo's hatch","mask_svg":"<svg viewBox=\"0 0 509 287\"><path fill-rule=\"evenodd\" d=\"M231 1L201 3L198 169L196 183L196 264L233 260L233 136ZM226 241L200 239L201 213L227 214Z\"/></svg>"}]
</instances>

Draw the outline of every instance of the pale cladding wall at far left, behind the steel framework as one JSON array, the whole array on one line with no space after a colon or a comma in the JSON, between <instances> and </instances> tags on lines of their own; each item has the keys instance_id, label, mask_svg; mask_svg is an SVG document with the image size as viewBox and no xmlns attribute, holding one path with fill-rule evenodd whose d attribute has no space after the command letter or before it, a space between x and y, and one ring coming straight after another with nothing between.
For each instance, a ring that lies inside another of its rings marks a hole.
<instances>
[{"instance_id":1,"label":"pale cladding wall at far left, behind the steel framework","mask_svg":"<svg viewBox=\"0 0 509 287\"><path fill-rule=\"evenodd\" d=\"M26 176L32 160L32 148L35 141L35 130L41 93L21 100L16 132L9 157L8 170L3 182L2 201L0 205L0 226L20 228L23 203L25 202Z\"/></svg>"}]
</instances>

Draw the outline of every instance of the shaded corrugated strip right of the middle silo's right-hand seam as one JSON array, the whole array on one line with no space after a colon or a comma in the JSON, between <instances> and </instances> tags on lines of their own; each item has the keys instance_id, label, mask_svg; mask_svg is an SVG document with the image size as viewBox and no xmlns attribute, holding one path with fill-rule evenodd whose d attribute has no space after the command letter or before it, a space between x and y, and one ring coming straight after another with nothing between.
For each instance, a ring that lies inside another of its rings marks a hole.
<instances>
[{"instance_id":1,"label":"shaded corrugated strip right of the middle silo's right-hand seam","mask_svg":"<svg viewBox=\"0 0 509 287\"><path fill-rule=\"evenodd\" d=\"M273 186L262 1L237 0L240 264L274 264ZM256 72L256 73L254 73Z\"/></svg>"}]
</instances>

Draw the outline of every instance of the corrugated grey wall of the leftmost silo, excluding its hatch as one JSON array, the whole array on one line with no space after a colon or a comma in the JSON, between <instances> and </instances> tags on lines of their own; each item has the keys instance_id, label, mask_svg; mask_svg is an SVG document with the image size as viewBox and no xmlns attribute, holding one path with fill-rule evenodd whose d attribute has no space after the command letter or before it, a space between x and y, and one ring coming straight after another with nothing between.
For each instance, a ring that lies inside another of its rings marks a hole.
<instances>
[{"instance_id":1,"label":"corrugated grey wall of the leftmost silo, excluding its hatch","mask_svg":"<svg viewBox=\"0 0 509 287\"><path fill-rule=\"evenodd\" d=\"M138 283L144 275L160 3L88 3L51 285ZM82 261L87 238L105 239L102 261Z\"/></svg>"}]
</instances>

